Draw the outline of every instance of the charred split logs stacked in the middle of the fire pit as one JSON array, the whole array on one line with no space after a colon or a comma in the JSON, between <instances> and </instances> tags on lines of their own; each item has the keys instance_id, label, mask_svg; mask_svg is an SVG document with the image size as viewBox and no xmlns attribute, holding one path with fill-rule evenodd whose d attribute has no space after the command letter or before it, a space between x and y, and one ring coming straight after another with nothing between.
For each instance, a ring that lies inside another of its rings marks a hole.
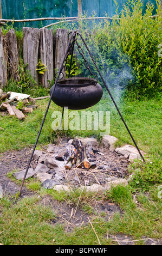
<instances>
[{"instance_id":1,"label":"charred split logs stacked in the middle of the fire pit","mask_svg":"<svg viewBox=\"0 0 162 256\"><path fill-rule=\"evenodd\" d=\"M78 139L73 140L72 150L68 154L69 158L64 166L66 169L70 169L73 167L86 169L96 167L96 165L94 166L94 163L89 162L86 153L86 147L82 145L81 141L79 141Z\"/></svg>"}]
</instances>

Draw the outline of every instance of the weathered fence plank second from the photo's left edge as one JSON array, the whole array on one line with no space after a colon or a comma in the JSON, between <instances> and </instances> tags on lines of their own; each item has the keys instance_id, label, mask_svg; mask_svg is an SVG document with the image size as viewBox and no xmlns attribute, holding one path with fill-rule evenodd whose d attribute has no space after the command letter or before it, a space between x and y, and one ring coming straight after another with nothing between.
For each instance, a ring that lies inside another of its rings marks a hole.
<instances>
[{"instance_id":1,"label":"weathered fence plank second from the photo's left edge","mask_svg":"<svg viewBox=\"0 0 162 256\"><path fill-rule=\"evenodd\" d=\"M19 56L18 56L18 47L15 29L10 29L6 34L6 42L7 42L7 55L8 55L8 69L10 75L13 80L18 81L18 64L19 64Z\"/></svg>"}]
</instances>

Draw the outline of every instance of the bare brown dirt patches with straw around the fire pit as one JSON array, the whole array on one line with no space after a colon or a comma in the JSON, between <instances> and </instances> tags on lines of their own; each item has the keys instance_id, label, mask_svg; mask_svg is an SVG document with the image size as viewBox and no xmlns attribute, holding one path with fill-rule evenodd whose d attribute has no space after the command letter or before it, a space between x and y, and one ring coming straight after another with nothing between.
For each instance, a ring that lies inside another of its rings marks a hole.
<instances>
[{"instance_id":1,"label":"bare brown dirt patches with straw around the fire pit","mask_svg":"<svg viewBox=\"0 0 162 256\"><path fill-rule=\"evenodd\" d=\"M23 170L27 167L27 164L30 159L30 155L33 148L24 148L19 151L7 151L4 154L0 155L0 185L3 188L3 194L7 195L13 195L20 191L20 185L17 185L16 182L10 180L7 177L7 174L9 172L12 172L13 170ZM104 148L100 148L100 152L105 153ZM114 153L109 153L109 156L100 155L99 156L100 161L104 160L104 157L108 157L109 161L111 159L111 163L109 162L109 175L119 176L119 178L125 178L128 176L127 172L127 166L128 163L125 161L121 156ZM106 159L106 161L108 161ZM36 167L36 161L32 161L31 165L33 168ZM101 166L104 166L104 164L101 164ZM101 179L101 174L105 174L104 168L99 168L99 176L98 179ZM87 176L87 175L86 175ZM96 180L94 180L96 181ZM25 183L22 188L22 192L20 195L20 199L24 197L32 197L35 196L35 192L29 190L27 187L25 187ZM82 225L86 225L90 222L93 223L93 218L96 217L96 214L99 216L102 216L105 221L108 221L112 218L114 213L116 211L120 212L122 215L123 212L119 208L118 205L112 203L112 202L105 202L104 200L101 200L100 202L95 202L92 205L92 208L95 211L95 215L91 214L88 215L85 211L77 207L76 205L67 204L66 202L59 202L50 196L44 196L41 199L41 203L43 205L50 205L54 211L57 213L57 218L55 221L53 221L53 224L55 223L62 223L64 224L65 230L67 232L72 231L74 227L81 227ZM116 235L116 236L109 236L111 237L118 245L134 245L134 241L132 240L132 237L128 237L127 235ZM154 239L147 239L145 241L146 245L160 245L161 241L157 241Z\"/></svg>"}]
</instances>

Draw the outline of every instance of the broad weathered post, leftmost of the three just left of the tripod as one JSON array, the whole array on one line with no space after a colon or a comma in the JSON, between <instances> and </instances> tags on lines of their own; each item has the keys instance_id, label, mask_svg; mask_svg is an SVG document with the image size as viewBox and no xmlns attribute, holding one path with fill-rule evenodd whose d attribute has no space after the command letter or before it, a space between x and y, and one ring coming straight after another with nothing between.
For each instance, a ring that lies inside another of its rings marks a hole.
<instances>
[{"instance_id":1,"label":"broad weathered post, leftmost of the three just left of the tripod","mask_svg":"<svg viewBox=\"0 0 162 256\"><path fill-rule=\"evenodd\" d=\"M40 41L40 29L23 28L23 58L24 65L27 64L27 70L38 84L38 73L36 71L38 63L38 47Z\"/></svg>"}]
</instances>

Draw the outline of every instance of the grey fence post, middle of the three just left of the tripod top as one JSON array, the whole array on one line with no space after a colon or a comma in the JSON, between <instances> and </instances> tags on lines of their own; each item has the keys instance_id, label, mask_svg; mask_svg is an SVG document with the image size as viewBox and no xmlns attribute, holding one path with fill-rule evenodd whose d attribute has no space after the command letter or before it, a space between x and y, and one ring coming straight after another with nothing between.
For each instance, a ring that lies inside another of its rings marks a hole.
<instances>
[{"instance_id":1,"label":"grey fence post, middle of the three just left of the tripod top","mask_svg":"<svg viewBox=\"0 0 162 256\"><path fill-rule=\"evenodd\" d=\"M54 78L54 51L53 51L54 33L53 29L50 31L47 28L40 29L40 59L42 64L47 66L44 75L40 75L40 83L43 87L50 86L49 81Z\"/></svg>"}]
</instances>

